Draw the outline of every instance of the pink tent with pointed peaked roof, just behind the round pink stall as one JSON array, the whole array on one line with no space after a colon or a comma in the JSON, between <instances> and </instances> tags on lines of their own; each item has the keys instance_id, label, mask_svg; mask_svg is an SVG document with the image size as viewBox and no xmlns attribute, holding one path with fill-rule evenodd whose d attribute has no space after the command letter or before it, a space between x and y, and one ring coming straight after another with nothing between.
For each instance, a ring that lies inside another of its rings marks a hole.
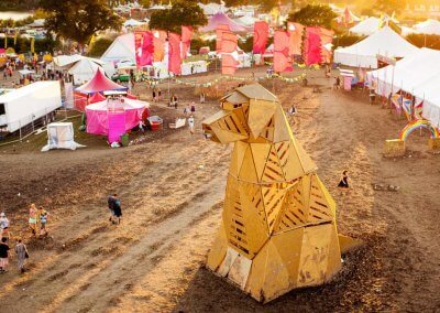
<instances>
[{"instance_id":1,"label":"pink tent with pointed peaked roof, just behind the round pink stall","mask_svg":"<svg viewBox=\"0 0 440 313\"><path fill-rule=\"evenodd\" d=\"M128 87L112 82L103 74L101 68L98 68L94 78L75 89L75 108L84 111L85 107L88 105L89 98L96 93L106 94L106 91L118 91L119 94L127 95L128 89Z\"/></svg>"}]
</instances>

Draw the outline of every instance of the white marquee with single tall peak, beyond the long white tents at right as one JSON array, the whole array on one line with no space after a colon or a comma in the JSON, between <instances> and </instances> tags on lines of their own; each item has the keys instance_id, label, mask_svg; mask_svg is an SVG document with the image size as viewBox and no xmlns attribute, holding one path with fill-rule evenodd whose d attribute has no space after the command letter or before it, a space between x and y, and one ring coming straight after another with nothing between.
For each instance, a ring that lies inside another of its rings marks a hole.
<instances>
[{"instance_id":1,"label":"white marquee with single tall peak, beyond the long white tents at right","mask_svg":"<svg viewBox=\"0 0 440 313\"><path fill-rule=\"evenodd\" d=\"M348 47L334 51L334 62L346 66L377 68L377 54L405 57L419 51L404 37L384 26L381 31Z\"/></svg>"}]
</instances>

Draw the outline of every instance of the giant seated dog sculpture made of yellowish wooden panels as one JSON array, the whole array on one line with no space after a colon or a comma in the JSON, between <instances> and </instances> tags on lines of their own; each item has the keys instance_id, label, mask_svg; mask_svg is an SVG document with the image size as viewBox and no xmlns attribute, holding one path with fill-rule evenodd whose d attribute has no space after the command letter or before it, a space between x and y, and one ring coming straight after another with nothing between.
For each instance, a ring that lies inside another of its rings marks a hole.
<instances>
[{"instance_id":1,"label":"giant seated dog sculpture made of yellowish wooden panels","mask_svg":"<svg viewBox=\"0 0 440 313\"><path fill-rule=\"evenodd\" d=\"M207 268L261 302L329 281L341 268L336 204L278 99L249 85L221 108L202 123L211 140L234 142Z\"/></svg>"}]
</instances>

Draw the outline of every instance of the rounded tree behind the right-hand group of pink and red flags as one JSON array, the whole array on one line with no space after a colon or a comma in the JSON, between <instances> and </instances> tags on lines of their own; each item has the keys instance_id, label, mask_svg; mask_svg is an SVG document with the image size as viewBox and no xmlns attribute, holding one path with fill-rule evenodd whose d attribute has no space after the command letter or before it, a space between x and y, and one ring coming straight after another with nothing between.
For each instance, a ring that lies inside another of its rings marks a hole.
<instances>
[{"instance_id":1,"label":"rounded tree behind the right-hand group of pink and red flags","mask_svg":"<svg viewBox=\"0 0 440 313\"><path fill-rule=\"evenodd\" d=\"M289 22L297 22L306 26L322 26L326 29L332 28L332 21L338 15L323 4L308 4L298 12L288 15Z\"/></svg>"}]
</instances>

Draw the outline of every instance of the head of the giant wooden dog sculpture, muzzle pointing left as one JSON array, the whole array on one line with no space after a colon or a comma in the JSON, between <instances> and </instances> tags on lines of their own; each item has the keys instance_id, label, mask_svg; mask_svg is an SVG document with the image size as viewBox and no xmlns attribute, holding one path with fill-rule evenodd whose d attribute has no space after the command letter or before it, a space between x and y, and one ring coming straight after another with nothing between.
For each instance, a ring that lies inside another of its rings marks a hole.
<instances>
[{"instance_id":1,"label":"head of the giant wooden dog sculpture, muzzle pointing left","mask_svg":"<svg viewBox=\"0 0 440 313\"><path fill-rule=\"evenodd\" d=\"M258 84L237 88L220 107L202 122L205 133L219 143L273 141L275 116L285 125L278 99Z\"/></svg>"}]
</instances>

